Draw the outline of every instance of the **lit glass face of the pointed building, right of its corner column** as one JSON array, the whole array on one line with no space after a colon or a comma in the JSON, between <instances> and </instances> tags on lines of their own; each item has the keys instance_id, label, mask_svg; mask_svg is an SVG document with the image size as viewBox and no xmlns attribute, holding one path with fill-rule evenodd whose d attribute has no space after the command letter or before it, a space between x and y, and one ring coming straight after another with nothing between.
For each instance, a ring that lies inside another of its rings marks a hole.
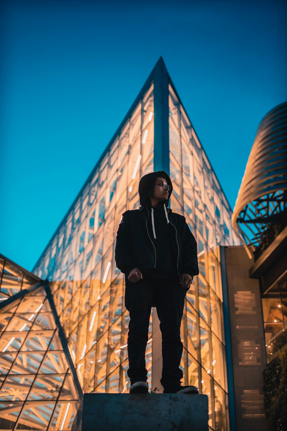
<instances>
[{"instance_id":1,"label":"lit glass face of the pointed building, right of its corner column","mask_svg":"<svg viewBox=\"0 0 287 431\"><path fill-rule=\"evenodd\" d=\"M237 245L231 209L173 87L169 86L170 206L185 216L198 244L199 275L186 296L182 325L185 383L209 397L211 429L227 430L219 245Z\"/></svg>"}]
</instances>

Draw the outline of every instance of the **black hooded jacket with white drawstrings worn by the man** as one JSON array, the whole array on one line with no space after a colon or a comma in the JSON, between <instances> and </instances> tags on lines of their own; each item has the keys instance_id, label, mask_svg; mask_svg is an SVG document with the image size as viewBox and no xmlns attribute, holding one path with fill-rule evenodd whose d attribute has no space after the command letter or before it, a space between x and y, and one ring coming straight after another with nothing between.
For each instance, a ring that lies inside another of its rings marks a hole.
<instances>
[{"instance_id":1,"label":"black hooded jacket with white drawstrings worn by the man","mask_svg":"<svg viewBox=\"0 0 287 431\"><path fill-rule=\"evenodd\" d=\"M150 191L157 177L166 178L171 187L162 206L153 208ZM177 279L179 282L182 274L192 277L199 274L197 244L185 217L167 208L172 191L172 182L164 171L150 172L139 181L141 206L123 213L116 236L115 261L117 268L125 274L126 281L134 268L142 272L143 278L161 276L161 269L163 278L167 278L164 276L167 269L168 278ZM163 225L165 222L167 225ZM167 249L166 268L162 267L165 263L162 253L157 253L160 244L156 237L161 238ZM168 247L171 247L171 250Z\"/></svg>"}]
</instances>

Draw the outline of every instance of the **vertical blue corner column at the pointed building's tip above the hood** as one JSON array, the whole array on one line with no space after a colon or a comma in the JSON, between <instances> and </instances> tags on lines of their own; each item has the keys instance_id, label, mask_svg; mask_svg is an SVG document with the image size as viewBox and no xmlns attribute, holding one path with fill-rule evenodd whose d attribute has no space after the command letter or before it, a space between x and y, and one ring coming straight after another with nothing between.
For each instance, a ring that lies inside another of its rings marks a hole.
<instances>
[{"instance_id":1,"label":"vertical blue corner column at the pointed building's tip above the hood","mask_svg":"<svg viewBox=\"0 0 287 431\"><path fill-rule=\"evenodd\" d=\"M168 73L162 57L154 67L154 171L170 175Z\"/></svg>"}]
</instances>

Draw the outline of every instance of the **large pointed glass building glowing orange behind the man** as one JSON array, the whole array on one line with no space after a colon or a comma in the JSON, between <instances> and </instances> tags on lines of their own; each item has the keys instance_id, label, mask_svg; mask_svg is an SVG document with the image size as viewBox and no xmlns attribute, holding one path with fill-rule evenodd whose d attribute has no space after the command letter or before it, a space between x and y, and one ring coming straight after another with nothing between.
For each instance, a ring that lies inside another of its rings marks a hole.
<instances>
[{"instance_id":1,"label":"large pointed glass building glowing orange behind the man","mask_svg":"<svg viewBox=\"0 0 287 431\"><path fill-rule=\"evenodd\" d=\"M33 272L47 279L83 392L125 393L129 315L114 247L121 215L139 208L138 185L164 170L170 207L198 243L200 275L182 319L185 384L209 396L210 428L228 430L219 245L237 245L231 208L162 58L89 175ZM152 313L146 350L153 388ZM56 429L56 428L55 428Z\"/></svg>"}]
</instances>

